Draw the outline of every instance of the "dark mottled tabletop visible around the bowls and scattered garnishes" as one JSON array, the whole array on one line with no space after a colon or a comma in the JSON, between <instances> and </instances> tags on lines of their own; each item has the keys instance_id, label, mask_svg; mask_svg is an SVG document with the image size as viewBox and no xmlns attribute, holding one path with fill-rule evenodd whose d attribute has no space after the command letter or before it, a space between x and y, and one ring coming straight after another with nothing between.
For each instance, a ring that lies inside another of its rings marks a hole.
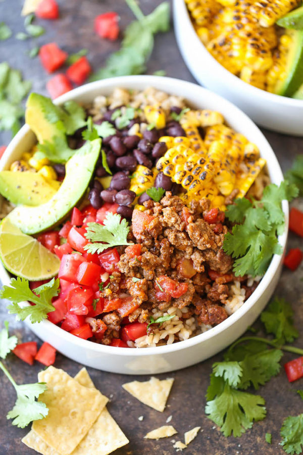
<instances>
[{"instance_id":1,"label":"dark mottled tabletop visible around the bowls and scattered garnishes","mask_svg":"<svg viewBox=\"0 0 303 455\"><path fill-rule=\"evenodd\" d=\"M180 0L181 1L181 0ZM7 60L11 66L22 70L24 77L33 82L33 90L45 93L45 82L49 77L41 68L38 58L30 60L26 51L35 45L41 45L56 40L60 46L69 53L78 51L81 48L88 48L88 58L93 66L97 68L104 62L104 59L119 46L118 42L110 42L99 39L93 33L93 18L97 14L109 10L115 10L121 16L121 27L132 19L132 14L125 6L123 0L102 1L80 1L61 0L61 19L55 22L38 21L47 32L45 35L29 40L18 41L14 37L7 41L0 41L0 60ZM149 12L160 3L159 0L141 0L144 12ZM20 17L21 0L4 0L0 2L0 20L5 20L14 33L23 29L23 19ZM156 38L153 55L148 62L148 74L159 69L165 69L168 76L178 77L194 81L183 63L175 43L173 31ZM292 138L269 131L264 131L267 139L274 148L283 170L287 169L297 153L303 149L303 139ZM0 136L0 144L8 143L9 134L3 133ZM301 201L295 201L299 206ZM302 206L301 206L302 208ZM299 246L300 239L290 234L289 247ZM300 337L296 342L297 346L303 347L302 325L303 325L303 298L302 298L302 266L292 273L283 270L276 295L287 298L295 310L295 322L300 331ZM0 321L8 319L11 331L22 341L34 340L35 337L22 323L16 323L13 316L8 316L6 307L3 304L0 308ZM36 339L40 344L40 340ZM285 354L282 362L293 358L291 354ZM88 369L96 387L105 395L111 396L109 411L117 420L125 434L130 439L129 445L117 450L116 455L149 455L153 453L168 455L175 453L171 439L184 440L183 433L195 426L201 426L196 439L184 450L187 455L236 455L236 454L266 454L278 455L284 453L279 446L279 430L282 420L289 416L295 416L302 412L302 401L295 390L303 388L303 380L295 384L289 384L284 371L262 387L258 393L264 396L268 415L263 422L255 424L241 438L225 438L214 426L213 422L207 419L204 413L205 392L209 383L209 374L214 361L220 361L222 354L217 355L199 365L185 370L174 372L161 377L172 376L175 383L168 400L165 412L158 413L151 408L141 404L135 398L125 392L121 384L133 379L145 380L148 377L131 377L104 373ZM17 383L35 382L37 373L41 366L36 363L33 367L10 355L6 365L16 379ZM68 358L57 355L56 367L63 368L71 375L75 375L81 365ZM0 374L0 455L18 454L30 455L34 451L21 443L21 438L28 429L18 429L6 420L6 414L11 409L15 400L15 392L10 383ZM151 429L165 425L166 419L172 415L171 425L179 432L173 438L159 441L148 441L143 436ZM144 416L142 422L138 421L139 416ZM265 433L273 435L273 444L265 442Z\"/></svg>"}]
</instances>

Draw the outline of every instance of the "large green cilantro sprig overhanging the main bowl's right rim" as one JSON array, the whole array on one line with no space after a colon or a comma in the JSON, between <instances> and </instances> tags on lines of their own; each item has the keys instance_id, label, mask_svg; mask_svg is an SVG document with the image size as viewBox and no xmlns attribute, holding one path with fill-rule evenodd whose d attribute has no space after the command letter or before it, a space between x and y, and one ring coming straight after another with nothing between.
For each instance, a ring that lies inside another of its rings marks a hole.
<instances>
[{"instance_id":1,"label":"large green cilantro sprig overhanging the main bowl's right rim","mask_svg":"<svg viewBox=\"0 0 303 455\"><path fill-rule=\"evenodd\" d=\"M261 201L236 199L229 205L226 217L235 223L232 233L227 233L223 249L236 258L233 270L236 276L264 275L273 254L281 254L277 235L284 229L282 201L297 196L295 185L282 181L278 187L268 185Z\"/></svg>"}]
</instances>

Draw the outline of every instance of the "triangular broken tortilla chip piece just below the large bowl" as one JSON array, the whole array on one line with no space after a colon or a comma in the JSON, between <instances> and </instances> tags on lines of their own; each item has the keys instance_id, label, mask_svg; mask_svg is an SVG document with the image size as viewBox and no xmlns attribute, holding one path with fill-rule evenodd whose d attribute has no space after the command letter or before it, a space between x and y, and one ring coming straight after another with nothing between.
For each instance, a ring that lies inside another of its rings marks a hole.
<instances>
[{"instance_id":1,"label":"triangular broken tortilla chip piece just below the large bowl","mask_svg":"<svg viewBox=\"0 0 303 455\"><path fill-rule=\"evenodd\" d=\"M128 382L123 384L122 387L141 403L147 404L147 406L163 413L173 382L173 378L160 381L151 377L149 381Z\"/></svg>"}]
</instances>

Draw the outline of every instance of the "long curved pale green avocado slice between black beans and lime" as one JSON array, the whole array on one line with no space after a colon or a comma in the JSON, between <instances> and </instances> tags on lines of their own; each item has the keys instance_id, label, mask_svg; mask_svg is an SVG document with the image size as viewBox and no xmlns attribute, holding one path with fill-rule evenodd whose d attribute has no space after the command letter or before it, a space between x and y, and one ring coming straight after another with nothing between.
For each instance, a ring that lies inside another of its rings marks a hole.
<instances>
[{"instance_id":1,"label":"long curved pale green avocado slice between black beans and lime","mask_svg":"<svg viewBox=\"0 0 303 455\"><path fill-rule=\"evenodd\" d=\"M100 139L87 141L66 163L66 175L55 196L36 207L16 207L8 215L11 222L24 234L37 234L60 223L85 193L100 147Z\"/></svg>"}]
</instances>

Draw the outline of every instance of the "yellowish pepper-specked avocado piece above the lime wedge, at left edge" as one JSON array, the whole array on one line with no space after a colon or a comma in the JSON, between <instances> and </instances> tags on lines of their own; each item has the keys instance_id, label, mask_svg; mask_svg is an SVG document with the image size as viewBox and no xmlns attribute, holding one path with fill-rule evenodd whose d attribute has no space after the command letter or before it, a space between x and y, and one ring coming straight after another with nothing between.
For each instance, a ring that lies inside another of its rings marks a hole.
<instances>
[{"instance_id":1,"label":"yellowish pepper-specked avocado piece above the lime wedge, at left edge","mask_svg":"<svg viewBox=\"0 0 303 455\"><path fill-rule=\"evenodd\" d=\"M15 205L43 204L57 193L59 186L56 180L47 183L37 172L0 172L0 193Z\"/></svg>"}]
</instances>

